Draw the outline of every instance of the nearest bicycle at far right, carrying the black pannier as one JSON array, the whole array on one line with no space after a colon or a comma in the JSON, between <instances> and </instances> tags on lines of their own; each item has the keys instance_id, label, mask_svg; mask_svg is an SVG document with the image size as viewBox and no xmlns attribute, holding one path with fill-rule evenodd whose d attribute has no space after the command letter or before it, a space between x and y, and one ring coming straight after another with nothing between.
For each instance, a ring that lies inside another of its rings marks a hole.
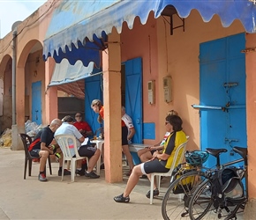
<instances>
[{"instance_id":1,"label":"nearest bicycle at far right, carrying the black pannier","mask_svg":"<svg viewBox=\"0 0 256 220\"><path fill-rule=\"evenodd\" d=\"M237 212L244 211L245 204L248 198L248 173L247 173L247 149L234 147L233 150L237 152L242 158L231 161L221 166L221 169L229 167L230 165L237 164L238 162L244 161L245 166L243 168L237 169L237 177L239 180L245 178L245 187L241 181L241 192L239 191L239 186L233 184L237 187L233 189L233 194L237 194L237 198L230 197L230 195L223 196L222 198L218 197L218 194L215 194L215 178L213 173L210 172L208 178L204 180L200 186L193 192L191 200L189 202L189 216L192 220L212 219L213 216L217 216L218 219L237 219ZM220 171L220 170L219 170ZM235 182L234 182L235 183ZM236 181L237 183L237 181ZM245 191L247 190L247 191ZM238 196L239 193L239 196ZM240 211L238 211L240 209Z\"/></svg>"}]
</instances>

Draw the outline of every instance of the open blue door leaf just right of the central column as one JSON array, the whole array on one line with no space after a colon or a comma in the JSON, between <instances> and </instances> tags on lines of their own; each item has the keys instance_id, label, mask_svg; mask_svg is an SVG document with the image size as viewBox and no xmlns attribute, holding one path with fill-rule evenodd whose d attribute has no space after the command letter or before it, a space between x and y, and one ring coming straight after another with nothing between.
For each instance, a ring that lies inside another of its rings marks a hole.
<instances>
[{"instance_id":1,"label":"open blue door leaf just right of the central column","mask_svg":"<svg viewBox=\"0 0 256 220\"><path fill-rule=\"evenodd\" d=\"M125 110L132 118L135 135L132 143L142 143L142 61L135 58L125 65Z\"/></svg>"}]
</instances>

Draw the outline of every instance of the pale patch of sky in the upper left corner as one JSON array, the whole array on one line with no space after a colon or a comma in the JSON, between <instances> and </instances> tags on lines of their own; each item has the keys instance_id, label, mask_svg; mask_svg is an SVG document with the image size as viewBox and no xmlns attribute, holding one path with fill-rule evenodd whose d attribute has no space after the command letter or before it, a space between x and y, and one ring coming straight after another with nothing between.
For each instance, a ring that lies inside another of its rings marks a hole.
<instances>
[{"instance_id":1,"label":"pale patch of sky in the upper left corner","mask_svg":"<svg viewBox=\"0 0 256 220\"><path fill-rule=\"evenodd\" d=\"M0 0L0 38L11 32L11 26L24 20L47 0Z\"/></svg>"}]
</instances>

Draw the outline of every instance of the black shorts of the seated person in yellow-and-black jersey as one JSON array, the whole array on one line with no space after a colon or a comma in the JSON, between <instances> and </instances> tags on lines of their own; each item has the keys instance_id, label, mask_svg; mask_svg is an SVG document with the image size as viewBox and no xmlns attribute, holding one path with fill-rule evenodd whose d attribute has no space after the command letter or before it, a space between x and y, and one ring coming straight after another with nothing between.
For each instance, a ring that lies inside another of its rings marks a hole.
<instances>
[{"instance_id":1,"label":"black shorts of the seated person in yellow-and-black jersey","mask_svg":"<svg viewBox=\"0 0 256 220\"><path fill-rule=\"evenodd\" d=\"M141 172L143 174L149 174L152 172L169 172L169 169L162 165L158 159L154 159L141 164Z\"/></svg>"}]
</instances>

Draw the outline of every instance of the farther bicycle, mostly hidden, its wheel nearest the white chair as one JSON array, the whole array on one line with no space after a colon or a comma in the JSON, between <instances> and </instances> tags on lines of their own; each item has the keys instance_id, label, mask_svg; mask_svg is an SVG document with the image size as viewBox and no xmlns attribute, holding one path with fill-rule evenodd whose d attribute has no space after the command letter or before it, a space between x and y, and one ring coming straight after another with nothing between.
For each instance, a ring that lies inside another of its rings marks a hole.
<instances>
[{"instance_id":1,"label":"farther bicycle, mostly hidden, its wheel nearest the white chair","mask_svg":"<svg viewBox=\"0 0 256 220\"><path fill-rule=\"evenodd\" d=\"M226 151L226 149L206 150L208 154L213 155L216 158L216 169L221 169L222 166L220 165L220 154ZM192 167L189 167L188 169L185 168L186 164L177 166L176 172L174 172L174 175L172 176L169 188L162 200L162 217L164 219L172 220L188 218L189 203L192 198L192 194L194 194L195 190L204 180L209 178L209 173L212 172L211 169L207 169L202 166L206 160L206 157L199 157L198 160L188 161L192 165ZM238 159L236 162L231 162L231 164L241 161L244 160ZM225 165L230 165L230 163ZM179 191L177 189L179 189Z\"/></svg>"}]
</instances>

